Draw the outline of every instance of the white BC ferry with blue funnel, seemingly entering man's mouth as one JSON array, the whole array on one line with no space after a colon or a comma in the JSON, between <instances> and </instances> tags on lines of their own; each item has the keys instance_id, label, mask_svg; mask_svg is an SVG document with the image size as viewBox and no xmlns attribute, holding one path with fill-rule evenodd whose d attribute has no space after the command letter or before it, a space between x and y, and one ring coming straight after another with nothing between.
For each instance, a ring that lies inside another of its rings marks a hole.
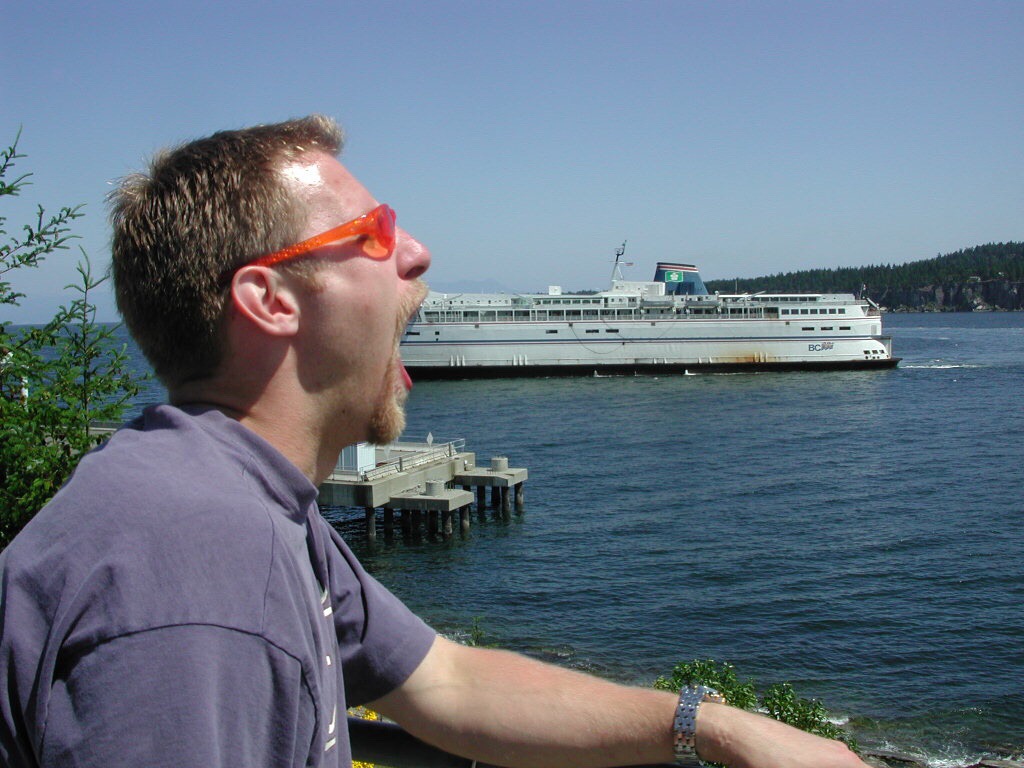
<instances>
[{"instance_id":1,"label":"white BC ferry with blue funnel, seemingly entering man's mouth","mask_svg":"<svg viewBox=\"0 0 1024 768\"><path fill-rule=\"evenodd\" d=\"M693 264L586 294L431 292L400 352L414 379L893 368L882 312L852 294L710 294Z\"/></svg>"}]
</instances>

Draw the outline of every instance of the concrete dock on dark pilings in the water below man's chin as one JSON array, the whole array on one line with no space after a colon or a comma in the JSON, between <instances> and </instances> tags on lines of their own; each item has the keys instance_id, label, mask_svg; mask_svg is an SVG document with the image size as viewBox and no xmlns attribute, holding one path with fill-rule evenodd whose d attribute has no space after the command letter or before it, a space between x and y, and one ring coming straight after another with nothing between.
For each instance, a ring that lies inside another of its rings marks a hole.
<instances>
[{"instance_id":1,"label":"concrete dock on dark pilings in the water below man's chin","mask_svg":"<svg viewBox=\"0 0 1024 768\"><path fill-rule=\"evenodd\" d=\"M319 486L323 506L361 507L367 536L377 536L377 509L384 510L384 530L394 528L394 512L401 514L403 529L419 530L427 513L429 532L450 536L459 514L463 530L469 529L469 507L476 492L477 509L490 505L503 515L523 508L525 469L510 468L506 457L495 457L488 467L476 466L476 455L465 450L463 439L436 442L393 442L374 446L351 445L342 452L334 471ZM438 522L440 530L438 530Z\"/></svg>"}]
</instances>

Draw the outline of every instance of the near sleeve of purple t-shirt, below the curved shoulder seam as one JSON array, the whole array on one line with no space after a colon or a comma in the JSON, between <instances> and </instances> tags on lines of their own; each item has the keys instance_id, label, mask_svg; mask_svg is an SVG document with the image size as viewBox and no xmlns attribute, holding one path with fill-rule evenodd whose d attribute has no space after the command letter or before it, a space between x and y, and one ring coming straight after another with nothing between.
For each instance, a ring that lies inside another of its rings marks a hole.
<instances>
[{"instance_id":1,"label":"near sleeve of purple t-shirt, below the curved shoulder seam","mask_svg":"<svg viewBox=\"0 0 1024 768\"><path fill-rule=\"evenodd\" d=\"M254 635L150 630L57 672L43 765L292 766L309 753L316 716L301 666Z\"/></svg>"}]
</instances>

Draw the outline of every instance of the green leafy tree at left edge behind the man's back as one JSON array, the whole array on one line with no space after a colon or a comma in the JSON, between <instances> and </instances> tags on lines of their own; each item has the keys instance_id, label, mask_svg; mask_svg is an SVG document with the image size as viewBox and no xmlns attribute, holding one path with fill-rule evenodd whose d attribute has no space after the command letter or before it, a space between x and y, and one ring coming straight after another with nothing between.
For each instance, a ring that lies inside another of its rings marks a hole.
<instances>
[{"instance_id":1,"label":"green leafy tree at left edge behind the man's back","mask_svg":"<svg viewBox=\"0 0 1024 768\"><path fill-rule=\"evenodd\" d=\"M32 175L5 180L25 157L17 153L19 138L20 131L0 153L0 198L20 194ZM9 273L67 250L74 238L70 224L81 215L81 206L52 216L40 206L33 223L9 236L0 216L0 308L17 306L25 296L8 282ZM13 328L0 321L0 548L100 441L90 424L119 421L138 391L124 345L115 342L117 327L96 322L91 296L106 278L95 278L79 250L78 280L66 287L72 300L49 323Z\"/></svg>"}]
</instances>

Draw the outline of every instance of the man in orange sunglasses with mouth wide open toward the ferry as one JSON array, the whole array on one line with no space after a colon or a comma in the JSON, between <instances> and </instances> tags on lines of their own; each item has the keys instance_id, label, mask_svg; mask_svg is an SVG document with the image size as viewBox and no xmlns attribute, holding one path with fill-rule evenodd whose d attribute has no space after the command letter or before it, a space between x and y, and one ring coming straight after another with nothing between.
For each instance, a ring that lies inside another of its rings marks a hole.
<instances>
[{"instance_id":1,"label":"man in orange sunglasses with mouth wide open toward the ferry","mask_svg":"<svg viewBox=\"0 0 1024 768\"><path fill-rule=\"evenodd\" d=\"M345 766L369 702L506 766L854 768L718 702L435 634L318 515L341 449L386 442L426 248L322 117L215 134L113 196L118 304L167 385L0 556L5 765ZM681 627L681 632L684 628ZM685 643L685 635L681 638Z\"/></svg>"}]
</instances>

